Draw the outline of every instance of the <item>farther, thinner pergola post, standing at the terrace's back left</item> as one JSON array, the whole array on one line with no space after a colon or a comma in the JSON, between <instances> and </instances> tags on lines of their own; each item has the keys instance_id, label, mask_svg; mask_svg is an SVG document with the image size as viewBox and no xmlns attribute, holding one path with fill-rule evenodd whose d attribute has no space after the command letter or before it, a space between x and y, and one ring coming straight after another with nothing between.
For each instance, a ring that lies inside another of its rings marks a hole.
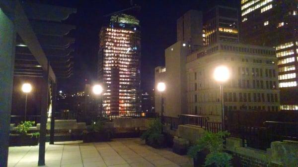
<instances>
[{"instance_id":1,"label":"farther, thinner pergola post, standing at the terrace's back left","mask_svg":"<svg viewBox=\"0 0 298 167\"><path fill-rule=\"evenodd\" d=\"M51 131L50 131L50 144L54 144L55 136L55 113L56 113L56 92L57 92L57 79L56 83L53 83L52 89L52 114L51 114Z\"/></svg>"}]
</instances>

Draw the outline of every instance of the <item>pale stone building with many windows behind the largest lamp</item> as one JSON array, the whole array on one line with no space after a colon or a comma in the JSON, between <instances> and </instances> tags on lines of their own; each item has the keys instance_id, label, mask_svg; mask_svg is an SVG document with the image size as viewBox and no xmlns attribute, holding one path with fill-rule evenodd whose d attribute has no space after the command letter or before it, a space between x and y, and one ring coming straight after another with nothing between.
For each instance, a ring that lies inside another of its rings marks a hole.
<instances>
[{"instance_id":1,"label":"pale stone building with many windows behind the largest lamp","mask_svg":"<svg viewBox=\"0 0 298 167\"><path fill-rule=\"evenodd\" d=\"M271 47L220 42L194 52L186 60L187 111L222 119L220 84L213 78L225 65L225 111L279 111L277 58Z\"/></svg>"}]
</instances>

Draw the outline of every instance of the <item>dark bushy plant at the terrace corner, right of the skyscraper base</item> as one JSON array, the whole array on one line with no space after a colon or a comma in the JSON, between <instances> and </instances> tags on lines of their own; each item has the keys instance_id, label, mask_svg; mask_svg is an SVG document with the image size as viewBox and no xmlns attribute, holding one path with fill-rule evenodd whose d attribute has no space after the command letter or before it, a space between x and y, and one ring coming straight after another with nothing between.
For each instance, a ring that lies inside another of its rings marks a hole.
<instances>
[{"instance_id":1,"label":"dark bushy plant at the terrace corner, right of the skyscraper base","mask_svg":"<svg viewBox=\"0 0 298 167\"><path fill-rule=\"evenodd\" d=\"M141 135L141 139L153 148L161 148L165 146L165 137L162 134L163 125L158 118L149 123L149 128Z\"/></svg>"}]
</instances>

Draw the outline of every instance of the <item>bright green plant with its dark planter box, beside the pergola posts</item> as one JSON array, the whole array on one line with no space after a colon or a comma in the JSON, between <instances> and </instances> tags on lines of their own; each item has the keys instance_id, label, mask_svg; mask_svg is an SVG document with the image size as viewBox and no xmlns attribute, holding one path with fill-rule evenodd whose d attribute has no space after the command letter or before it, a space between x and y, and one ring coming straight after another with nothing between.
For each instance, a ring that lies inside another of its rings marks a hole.
<instances>
[{"instance_id":1,"label":"bright green plant with its dark planter box, beside the pergola posts","mask_svg":"<svg viewBox=\"0 0 298 167\"><path fill-rule=\"evenodd\" d=\"M18 134L9 135L9 146L36 146L38 145L39 132L28 133L30 127L35 124L34 121L22 121L16 127Z\"/></svg>"}]
</instances>

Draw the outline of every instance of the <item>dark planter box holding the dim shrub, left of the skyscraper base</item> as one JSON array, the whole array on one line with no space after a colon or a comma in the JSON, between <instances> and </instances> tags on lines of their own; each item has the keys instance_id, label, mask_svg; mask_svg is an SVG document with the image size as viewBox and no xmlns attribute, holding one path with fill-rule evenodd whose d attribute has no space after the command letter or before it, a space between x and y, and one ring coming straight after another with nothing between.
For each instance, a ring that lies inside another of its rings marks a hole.
<instances>
[{"instance_id":1,"label":"dark planter box holding the dim shrub, left of the skyscraper base","mask_svg":"<svg viewBox=\"0 0 298 167\"><path fill-rule=\"evenodd\" d=\"M87 132L83 133L82 138L84 143L111 141L109 132Z\"/></svg>"}]
</instances>

